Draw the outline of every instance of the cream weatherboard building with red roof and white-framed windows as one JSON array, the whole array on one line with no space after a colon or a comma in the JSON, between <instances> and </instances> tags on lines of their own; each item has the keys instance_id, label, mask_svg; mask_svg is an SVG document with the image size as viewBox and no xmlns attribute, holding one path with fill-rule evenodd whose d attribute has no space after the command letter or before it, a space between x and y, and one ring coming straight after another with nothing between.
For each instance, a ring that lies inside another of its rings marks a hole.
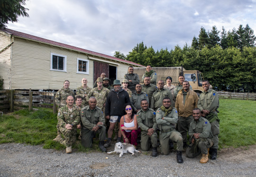
<instances>
[{"instance_id":1,"label":"cream weatherboard building with red roof and white-framed windows","mask_svg":"<svg viewBox=\"0 0 256 177\"><path fill-rule=\"evenodd\" d=\"M0 29L0 76L4 89L58 90L64 80L75 90L86 77L92 87L105 72L122 80L137 63L50 41L11 29Z\"/></svg>"}]
</instances>

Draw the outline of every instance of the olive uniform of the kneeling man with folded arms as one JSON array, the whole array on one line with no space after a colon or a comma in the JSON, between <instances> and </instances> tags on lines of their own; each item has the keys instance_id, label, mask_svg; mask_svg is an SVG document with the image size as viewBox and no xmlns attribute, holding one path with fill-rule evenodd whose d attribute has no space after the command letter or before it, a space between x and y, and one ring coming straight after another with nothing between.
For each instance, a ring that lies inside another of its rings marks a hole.
<instances>
[{"instance_id":1,"label":"olive uniform of the kneeling man with folded arms","mask_svg":"<svg viewBox=\"0 0 256 177\"><path fill-rule=\"evenodd\" d=\"M177 151L183 150L183 138L180 132L175 129L175 124L178 122L178 112L175 108L165 116L165 112L159 108L156 111L156 123L160 129L159 140L161 150L164 155L169 154L169 140L177 143ZM164 118L164 119L162 119Z\"/></svg>"}]
</instances>

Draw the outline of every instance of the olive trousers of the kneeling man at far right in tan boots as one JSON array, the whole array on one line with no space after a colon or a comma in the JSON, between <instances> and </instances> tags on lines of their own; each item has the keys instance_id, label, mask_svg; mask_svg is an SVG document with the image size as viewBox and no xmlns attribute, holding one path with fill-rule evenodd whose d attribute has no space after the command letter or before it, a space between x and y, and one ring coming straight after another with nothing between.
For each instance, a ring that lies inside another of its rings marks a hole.
<instances>
[{"instance_id":1,"label":"olive trousers of the kneeling man at far right in tan boots","mask_svg":"<svg viewBox=\"0 0 256 177\"><path fill-rule=\"evenodd\" d=\"M196 143L190 144L186 150L186 157L193 158L199 154L208 154L207 149L213 145L210 138L199 138Z\"/></svg>"}]
</instances>

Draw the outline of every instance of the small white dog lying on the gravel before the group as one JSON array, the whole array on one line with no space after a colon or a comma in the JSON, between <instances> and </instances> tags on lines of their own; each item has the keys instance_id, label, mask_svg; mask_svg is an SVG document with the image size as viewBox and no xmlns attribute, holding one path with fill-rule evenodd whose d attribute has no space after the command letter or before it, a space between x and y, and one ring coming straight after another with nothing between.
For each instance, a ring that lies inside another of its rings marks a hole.
<instances>
[{"instance_id":1,"label":"small white dog lying on the gravel before the group","mask_svg":"<svg viewBox=\"0 0 256 177\"><path fill-rule=\"evenodd\" d=\"M132 145L132 144L119 142L119 143L116 143L114 151L107 152L107 153L110 154L113 152L120 153L119 157L122 157L122 155L124 153L130 152L130 153L132 153L132 155L134 155L134 152L140 152L140 151L137 151L135 149L134 145Z\"/></svg>"}]
</instances>

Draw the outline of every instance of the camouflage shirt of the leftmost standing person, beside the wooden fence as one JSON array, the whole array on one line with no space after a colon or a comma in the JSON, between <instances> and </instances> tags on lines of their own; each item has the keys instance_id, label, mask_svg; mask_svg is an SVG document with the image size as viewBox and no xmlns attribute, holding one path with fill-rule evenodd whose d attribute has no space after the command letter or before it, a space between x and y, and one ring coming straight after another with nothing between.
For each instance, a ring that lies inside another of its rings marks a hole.
<instances>
[{"instance_id":1,"label":"camouflage shirt of the leftmost standing person, beside the wooden fence","mask_svg":"<svg viewBox=\"0 0 256 177\"><path fill-rule=\"evenodd\" d=\"M62 87L58 90L55 95L55 103L59 109L66 105L66 98L69 95L72 95L75 98L74 92L70 88L64 89L64 87Z\"/></svg>"}]
</instances>

